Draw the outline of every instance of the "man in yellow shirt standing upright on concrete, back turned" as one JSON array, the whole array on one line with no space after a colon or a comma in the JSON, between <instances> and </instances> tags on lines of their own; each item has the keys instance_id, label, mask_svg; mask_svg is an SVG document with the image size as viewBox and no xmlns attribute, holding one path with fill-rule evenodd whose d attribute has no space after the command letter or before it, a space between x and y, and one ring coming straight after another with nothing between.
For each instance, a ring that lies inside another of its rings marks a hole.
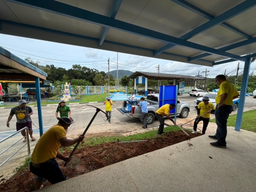
<instances>
[{"instance_id":1,"label":"man in yellow shirt standing upright on concrete, back turned","mask_svg":"<svg viewBox=\"0 0 256 192\"><path fill-rule=\"evenodd\" d=\"M230 116L230 113L232 112L233 99L239 97L239 92L236 91L234 85L228 82L223 74L216 76L215 82L219 85L219 91L215 98L217 104L215 110L217 131L215 136L209 137L218 141L210 143L210 145L217 148L227 148L226 137L228 116Z\"/></svg>"}]
</instances>

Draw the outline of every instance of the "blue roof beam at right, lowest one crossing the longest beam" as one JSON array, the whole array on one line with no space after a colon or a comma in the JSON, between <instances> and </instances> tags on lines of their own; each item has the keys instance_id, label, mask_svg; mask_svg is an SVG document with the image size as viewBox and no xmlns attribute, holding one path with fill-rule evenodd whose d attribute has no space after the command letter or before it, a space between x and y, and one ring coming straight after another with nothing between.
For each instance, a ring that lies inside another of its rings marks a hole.
<instances>
[{"instance_id":1,"label":"blue roof beam at right, lowest one crossing the longest beam","mask_svg":"<svg viewBox=\"0 0 256 192\"><path fill-rule=\"evenodd\" d=\"M255 43L255 42L256 42L256 37L253 37L253 38L250 38L249 40L240 41L238 43L234 43L234 44L230 44L229 46L222 47L219 50L222 50L222 51L225 52L226 50L236 49L237 47L246 46L248 44ZM201 55L190 57L188 59L188 61L194 61L194 60L197 60L197 59L200 59L200 58L204 58L204 57L209 56L209 55L212 55L212 54L210 54L210 53L203 53Z\"/></svg>"}]
</instances>

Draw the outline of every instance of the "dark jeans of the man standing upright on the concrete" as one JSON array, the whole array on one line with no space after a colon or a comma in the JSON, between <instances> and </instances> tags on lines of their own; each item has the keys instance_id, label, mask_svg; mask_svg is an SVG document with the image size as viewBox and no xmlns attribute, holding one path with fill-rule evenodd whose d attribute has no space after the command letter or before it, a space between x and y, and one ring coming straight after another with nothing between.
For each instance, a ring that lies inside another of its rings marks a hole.
<instances>
[{"instance_id":1,"label":"dark jeans of the man standing upright on the concrete","mask_svg":"<svg viewBox=\"0 0 256 192\"><path fill-rule=\"evenodd\" d=\"M215 110L215 118L217 124L216 137L218 138L218 142L222 143L223 145L227 144L227 121L231 112L232 106L221 106L219 109L216 107Z\"/></svg>"}]
</instances>

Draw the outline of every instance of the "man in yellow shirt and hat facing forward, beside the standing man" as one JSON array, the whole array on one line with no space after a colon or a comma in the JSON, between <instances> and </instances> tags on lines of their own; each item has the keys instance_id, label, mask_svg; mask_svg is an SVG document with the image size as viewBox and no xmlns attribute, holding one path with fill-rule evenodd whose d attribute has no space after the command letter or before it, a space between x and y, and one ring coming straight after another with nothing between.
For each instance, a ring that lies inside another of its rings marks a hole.
<instances>
[{"instance_id":1,"label":"man in yellow shirt and hat facing forward, beside the standing man","mask_svg":"<svg viewBox=\"0 0 256 192\"><path fill-rule=\"evenodd\" d=\"M215 106L209 102L209 97L204 96L203 102L198 104L197 118L194 122L194 131L192 133L197 133L197 125L200 121L203 121L202 134L206 134L206 129L210 121L210 112L215 110Z\"/></svg>"}]
</instances>

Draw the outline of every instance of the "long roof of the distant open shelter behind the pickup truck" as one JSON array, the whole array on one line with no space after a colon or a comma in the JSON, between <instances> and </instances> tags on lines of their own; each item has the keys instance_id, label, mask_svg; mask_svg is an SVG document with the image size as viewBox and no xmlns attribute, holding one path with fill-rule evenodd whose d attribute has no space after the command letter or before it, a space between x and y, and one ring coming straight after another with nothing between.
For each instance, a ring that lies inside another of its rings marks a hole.
<instances>
[{"instance_id":1,"label":"long roof of the distant open shelter behind the pickup truck","mask_svg":"<svg viewBox=\"0 0 256 192\"><path fill-rule=\"evenodd\" d=\"M136 77L139 77L139 76L144 76L147 79L154 79L154 80L201 79L198 77L184 76L180 74L148 73L148 72L141 72L141 71L136 71L135 73L131 74L128 78L136 79Z\"/></svg>"}]
</instances>

